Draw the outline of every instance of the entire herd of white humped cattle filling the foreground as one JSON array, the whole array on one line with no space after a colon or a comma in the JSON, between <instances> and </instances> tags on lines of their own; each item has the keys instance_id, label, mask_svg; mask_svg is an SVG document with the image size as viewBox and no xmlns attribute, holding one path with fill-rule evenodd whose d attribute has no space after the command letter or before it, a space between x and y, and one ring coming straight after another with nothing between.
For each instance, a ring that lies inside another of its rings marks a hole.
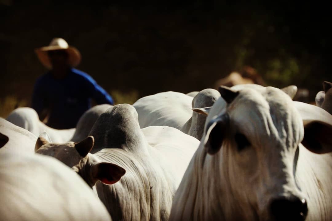
<instances>
[{"instance_id":1,"label":"entire herd of white humped cattle filling the foreground","mask_svg":"<svg viewBox=\"0 0 332 221\"><path fill-rule=\"evenodd\" d=\"M0 220L332 220L332 83L97 105L76 128L0 118Z\"/></svg>"}]
</instances>

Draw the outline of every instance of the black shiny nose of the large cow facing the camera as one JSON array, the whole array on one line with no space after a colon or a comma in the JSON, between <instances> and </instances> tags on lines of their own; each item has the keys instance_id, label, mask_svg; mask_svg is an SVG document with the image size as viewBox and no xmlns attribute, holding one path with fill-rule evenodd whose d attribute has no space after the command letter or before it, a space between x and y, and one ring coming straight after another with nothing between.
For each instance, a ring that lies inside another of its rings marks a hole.
<instances>
[{"instance_id":1,"label":"black shiny nose of the large cow facing the camera","mask_svg":"<svg viewBox=\"0 0 332 221\"><path fill-rule=\"evenodd\" d=\"M305 199L280 197L271 202L270 211L275 220L305 220L308 207Z\"/></svg>"}]
</instances>

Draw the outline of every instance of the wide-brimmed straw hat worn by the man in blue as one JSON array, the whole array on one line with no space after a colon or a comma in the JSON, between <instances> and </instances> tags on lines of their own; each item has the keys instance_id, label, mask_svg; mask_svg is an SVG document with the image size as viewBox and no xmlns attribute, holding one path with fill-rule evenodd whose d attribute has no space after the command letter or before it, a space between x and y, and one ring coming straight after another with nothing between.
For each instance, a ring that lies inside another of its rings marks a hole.
<instances>
[{"instance_id":1,"label":"wide-brimmed straw hat worn by the man in blue","mask_svg":"<svg viewBox=\"0 0 332 221\"><path fill-rule=\"evenodd\" d=\"M81 61L81 54L80 52L72 46L69 46L67 41L65 41L63 38L53 38L51 43L49 43L48 46L36 48L35 52L41 61L41 63L47 67L48 69L52 68L52 64L49 60L49 57L47 55L47 51L50 50L59 50L64 49L68 54L68 64L72 67L76 67L80 61Z\"/></svg>"}]
</instances>

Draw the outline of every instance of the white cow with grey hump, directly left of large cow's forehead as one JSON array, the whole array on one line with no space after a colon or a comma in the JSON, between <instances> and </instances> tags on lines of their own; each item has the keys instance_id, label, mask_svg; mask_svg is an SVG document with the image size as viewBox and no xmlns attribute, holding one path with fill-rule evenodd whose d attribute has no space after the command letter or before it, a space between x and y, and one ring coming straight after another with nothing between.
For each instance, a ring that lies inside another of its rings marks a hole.
<instances>
[{"instance_id":1,"label":"white cow with grey hump, directly left of large cow's forehead","mask_svg":"<svg viewBox=\"0 0 332 221\"><path fill-rule=\"evenodd\" d=\"M212 106L219 97L214 89L204 89L194 98L168 91L140 98L133 106L141 128L171 126L200 140L206 116L193 110Z\"/></svg>"}]
</instances>

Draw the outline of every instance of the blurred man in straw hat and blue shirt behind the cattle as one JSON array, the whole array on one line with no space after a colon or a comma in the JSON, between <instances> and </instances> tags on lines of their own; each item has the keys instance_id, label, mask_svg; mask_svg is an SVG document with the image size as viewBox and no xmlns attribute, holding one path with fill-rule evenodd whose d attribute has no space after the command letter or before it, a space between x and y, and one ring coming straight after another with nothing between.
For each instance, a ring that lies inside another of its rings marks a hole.
<instances>
[{"instance_id":1,"label":"blurred man in straw hat and blue shirt behind the cattle","mask_svg":"<svg viewBox=\"0 0 332 221\"><path fill-rule=\"evenodd\" d=\"M53 38L48 46L35 52L47 73L37 79L33 98L34 108L41 121L56 129L76 126L80 116L97 104L113 105L112 97L87 73L75 69L80 52L62 38Z\"/></svg>"}]
</instances>

